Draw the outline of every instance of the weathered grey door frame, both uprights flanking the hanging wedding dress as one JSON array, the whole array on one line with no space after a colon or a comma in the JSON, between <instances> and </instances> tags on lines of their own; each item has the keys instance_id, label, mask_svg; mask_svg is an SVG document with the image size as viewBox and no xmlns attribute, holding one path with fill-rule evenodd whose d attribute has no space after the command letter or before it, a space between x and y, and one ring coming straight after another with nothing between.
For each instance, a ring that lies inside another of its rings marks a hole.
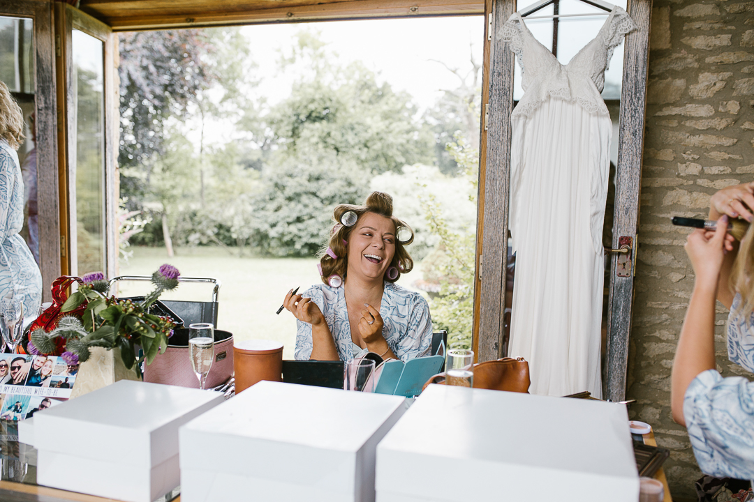
<instances>
[{"instance_id":1,"label":"weathered grey door frame, both uprights flanking the hanging wedding dress","mask_svg":"<svg viewBox=\"0 0 754 502\"><path fill-rule=\"evenodd\" d=\"M626 392L628 341L633 312L633 266L639 224L639 190L644 148L649 29L652 0L629 0L627 12L639 29L624 42L618 176L615 186L613 248L621 237L633 239L627 276L617 275L618 255L611 257L608 297L608 337L604 397L623 400ZM474 288L473 347L477 361L504 357L505 282L510 178L510 112L513 111L513 52L495 34L516 11L516 0L487 0L492 20L486 36L483 68L483 127L480 131L479 208L477 213L477 275ZM491 40L488 40L491 39ZM485 100L486 98L486 100ZM489 104L486 114L485 105ZM485 119L485 115L488 117Z\"/></svg>"}]
</instances>

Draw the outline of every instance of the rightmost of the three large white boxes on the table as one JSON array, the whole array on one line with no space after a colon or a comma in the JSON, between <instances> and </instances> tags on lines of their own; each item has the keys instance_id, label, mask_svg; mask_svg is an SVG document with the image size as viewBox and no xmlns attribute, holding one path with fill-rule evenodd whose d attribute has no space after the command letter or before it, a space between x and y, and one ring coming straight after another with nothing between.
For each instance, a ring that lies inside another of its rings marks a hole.
<instances>
[{"instance_id":1,"label":"rightmost of the three large white boxes on the table","mask_svg":"<svg viewBox=\"0 0 754 502\"><path fill-rule=\"evenodd\" d=\"M430 385L377 447L377 502L636 502L626 406Z\"/></svg>"}]
</instances>

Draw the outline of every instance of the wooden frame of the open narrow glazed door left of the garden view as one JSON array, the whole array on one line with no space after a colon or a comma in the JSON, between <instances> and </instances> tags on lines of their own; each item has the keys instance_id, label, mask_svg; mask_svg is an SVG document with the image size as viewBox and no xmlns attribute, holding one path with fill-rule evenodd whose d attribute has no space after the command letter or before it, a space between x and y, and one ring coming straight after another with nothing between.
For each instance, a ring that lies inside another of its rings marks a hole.
<instances>
[{"instance_id":1,"label":"wooden frame of the open narrow glazed door left of the garden view","mask_svg":"<svg viewBox=\"0 0 754 502\"><path fill-rule=\"evenodd\" d=\"M103 133L105 135L103 145L103 159L105 161L105 172L103 173L104 196L103 210L105 211L103 236L105 252L105 272L106 277L115 277L117 275L118 262L118 221L115 213L118 208L118 180L116 176L116 165L118 160L118 120L119 99L117 74L115 72L115 54L117 53L117 37L113 35L112 29L100 20L94 19L88 14L73 8L71 5L56 3L55 4L55 22L58 40L60 40L60 51L57 55L57 75L58 75L58 106L66 117L64 127L58 129L60 148L60 199L63 201L60 208L60 221L63 222L63 235L66 236L63 249L63 260L61 267L65 273L70 273L73 269L72 247L76 245L75 236L72 233L76 229L75 209L75 179L71 179L69 166L68 138L75 131L72 130L75 120L75 110L69 107L69 102L75 97L72 95L72 30L84 32L87 35L97 38L103 42ZM78 270L77 272L84 272ZM92 272L92 271L86 271Z\"/></svg>"}]
</instances>

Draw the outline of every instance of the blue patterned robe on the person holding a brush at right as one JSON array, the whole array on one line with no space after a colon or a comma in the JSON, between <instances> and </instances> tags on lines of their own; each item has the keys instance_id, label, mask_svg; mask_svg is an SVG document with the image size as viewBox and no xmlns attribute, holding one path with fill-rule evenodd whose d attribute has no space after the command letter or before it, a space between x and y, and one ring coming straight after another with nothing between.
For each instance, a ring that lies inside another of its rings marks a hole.
<instances>
[{"instance_id":1,"label":"blue patterned robe on the person holding a brush at right","mask_svg":"<svg viewBox=\"0 0 754 502\"><path fill-rule=\"evenodd\" d=\"M737 315L741 303L737 294L728 315L728 357L754 373L754 315ZM686 389L683 417L703 473L754 479L754 382L706 370Z\"/></svg>"}]
</instances>

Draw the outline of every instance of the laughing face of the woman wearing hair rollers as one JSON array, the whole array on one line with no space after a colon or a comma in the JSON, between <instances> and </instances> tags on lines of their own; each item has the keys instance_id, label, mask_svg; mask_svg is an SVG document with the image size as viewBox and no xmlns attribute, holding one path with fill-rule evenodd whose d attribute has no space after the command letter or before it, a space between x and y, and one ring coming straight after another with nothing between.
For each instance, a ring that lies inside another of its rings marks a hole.
<instances>
[{"instance_id":1,"label":"laughing face of the woman wearing hair rollers","mask_svg":"<svg viewBox=\"0 0 754 502\"><path fill-rule=\"evenodd\" d=\"M393 221L379 214L363 214L348 236L348 276L382 279L394 255Z\"/></svg>"}]
</instances>

